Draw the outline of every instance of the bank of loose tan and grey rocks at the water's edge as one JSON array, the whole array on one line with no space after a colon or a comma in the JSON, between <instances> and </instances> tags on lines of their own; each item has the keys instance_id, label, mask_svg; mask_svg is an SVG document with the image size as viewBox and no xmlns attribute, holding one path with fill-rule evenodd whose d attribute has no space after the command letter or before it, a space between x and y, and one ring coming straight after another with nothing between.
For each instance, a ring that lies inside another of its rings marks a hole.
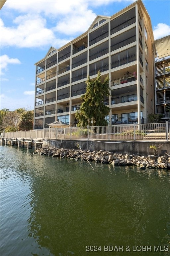
<instances>
[{"instance_id":1,"label":"bank of loose tan and grey rocks at the water's edge","mask_svg":"<svg viewBox=\"0 0 170 256\"><path fill-rule=\"evenodd\" d=\"M33 154L48 155L59 158L72 158L75 161L89 161L102 164L112 164L119 166L136 166L144 169L167 169L170 170L170 155L163 156L141 156L135 154L114 153L104 150L81 150L65 149L56 147L38 148Z\"/></svg>"}]
</instances>

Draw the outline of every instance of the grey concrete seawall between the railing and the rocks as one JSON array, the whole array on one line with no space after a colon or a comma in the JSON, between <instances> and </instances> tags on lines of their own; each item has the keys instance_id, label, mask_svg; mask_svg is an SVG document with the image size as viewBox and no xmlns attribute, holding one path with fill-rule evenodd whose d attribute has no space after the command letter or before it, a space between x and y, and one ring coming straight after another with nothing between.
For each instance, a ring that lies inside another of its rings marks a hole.
<instances>
[{"instance_id":1,"label":"grey concrete seawall between the railing and the rocks","mask_svg":"<svg viewBox=\"0 0 170 256\"><path fill-rule=\"evenodd\" d=\"M157 141L97 141L97 140L42 140L42 146L56 147L56 148L70 148L77 149L81 146L82 150L105 150L112 152L136 154L136 155L150 155L153 150L149 148L151 145L156 145L158 148L158 155L164 153L170 154L170 142Z\"/></svg>"}]
</instances>

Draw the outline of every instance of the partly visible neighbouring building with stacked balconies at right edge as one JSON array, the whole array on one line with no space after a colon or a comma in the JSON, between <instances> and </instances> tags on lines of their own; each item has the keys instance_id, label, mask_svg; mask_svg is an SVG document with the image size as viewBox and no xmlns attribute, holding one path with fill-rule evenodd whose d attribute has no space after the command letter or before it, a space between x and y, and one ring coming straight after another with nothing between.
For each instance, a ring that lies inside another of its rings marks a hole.
<instances>
[{"instance_id":1,"label":"partly visible neighbouring building with stacked balconies at right edge","mask_svg":"<svg viewBox=\"0 0 170 256\"><path fill-rule=\"evenodd\" d=\"M170 120L170 35L155 40L155 113Z\"/></svg>"}]
</instances>

